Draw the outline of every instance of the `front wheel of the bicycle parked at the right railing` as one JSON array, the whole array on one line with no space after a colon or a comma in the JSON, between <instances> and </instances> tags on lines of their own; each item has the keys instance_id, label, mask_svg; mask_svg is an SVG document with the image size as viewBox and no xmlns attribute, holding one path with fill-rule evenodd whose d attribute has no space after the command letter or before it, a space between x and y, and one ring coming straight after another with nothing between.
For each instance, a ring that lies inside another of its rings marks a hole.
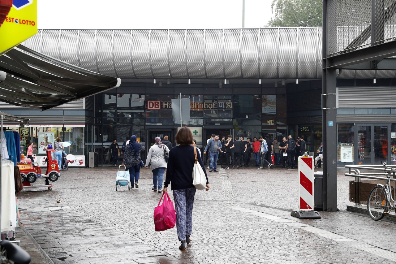
<instances>
[{"instance_id":1,"label":"front wheel of the bicycle parked at the right railing","mask_svg":"<svg viewBox=\"0 0 396 264\"><path fill-rule=\"evenodd\" d=\"M367 201L367 211L371 219L378 221L384 217L384 212L388 212L388 195L385 189L375 186L369 195Z\"/></svg>"}]
</instances>

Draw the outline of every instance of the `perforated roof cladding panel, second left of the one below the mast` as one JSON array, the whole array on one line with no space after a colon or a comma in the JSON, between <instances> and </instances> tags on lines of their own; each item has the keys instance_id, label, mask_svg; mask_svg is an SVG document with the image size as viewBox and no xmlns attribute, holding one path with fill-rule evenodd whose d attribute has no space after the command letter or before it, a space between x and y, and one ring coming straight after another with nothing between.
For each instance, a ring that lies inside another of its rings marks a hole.
<instances>
[{"instance_id":1,"label":"perforated roof cladding panel, second left of the one below the mast","mask_svg":"<svg viewBox=\"0 0 396 264\"><path fill-rule=\"evenodd\" d=\"M223 30L206 29L205 64L209 79L224 78L223 73Z\"/></svg>"}]
</instances>

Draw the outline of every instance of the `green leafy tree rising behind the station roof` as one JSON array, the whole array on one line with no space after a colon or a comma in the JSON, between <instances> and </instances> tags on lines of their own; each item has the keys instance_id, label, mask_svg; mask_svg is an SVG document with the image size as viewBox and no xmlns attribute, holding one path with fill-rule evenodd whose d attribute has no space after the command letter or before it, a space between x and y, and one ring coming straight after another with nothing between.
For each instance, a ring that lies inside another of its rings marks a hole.
<instances>
[{"instance_id":1,"label":"green leafy tree rising behind the station roof","mask_svg":"<svg viewBox=\"0 0 396 264\"><path fill-rule=\"evenodd\" d=\"M322 0L272 0L267 27L322 27Z\"/></svg>"}]
</instances>

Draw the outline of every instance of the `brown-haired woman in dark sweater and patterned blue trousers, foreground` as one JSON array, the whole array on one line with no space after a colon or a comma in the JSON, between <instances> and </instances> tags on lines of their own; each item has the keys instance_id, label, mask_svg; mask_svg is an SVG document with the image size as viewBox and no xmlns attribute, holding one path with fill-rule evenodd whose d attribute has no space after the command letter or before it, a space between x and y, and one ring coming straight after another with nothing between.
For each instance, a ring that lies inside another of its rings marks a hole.
<instances>
[{"instance_id":1,"label":"brown-haired woman in dark sweater and patterned blue trousers, foreground","mask_svg":"<svg viewBox=\"0 0 396 264\"><path fill-rule=\"evenodd\" d=\"M190 244L192 231L192 206L194 205L194 195L196 188L192 184L192 169L195 155L192 143L192 133L190 128L184 126L176 134L177 147L172 147L169 152L168 167L166 170L166 180L163 192L168 190L169 183L172 183L172 192L176 206L176 228L177 236L181 245L179 249L185 250L186 244ZM200 155L197 155L198 162L205 172L206 191L209 190L208 176L205 165Z\"/></svg>"}]
</instances>

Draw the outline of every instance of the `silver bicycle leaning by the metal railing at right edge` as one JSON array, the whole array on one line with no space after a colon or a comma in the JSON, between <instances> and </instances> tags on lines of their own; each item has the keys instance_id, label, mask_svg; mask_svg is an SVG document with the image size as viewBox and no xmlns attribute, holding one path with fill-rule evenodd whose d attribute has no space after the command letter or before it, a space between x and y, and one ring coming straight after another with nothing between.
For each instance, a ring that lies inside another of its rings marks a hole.
<instances>
[{"instance_id":1,"label":"silver bicycle leaning by the metal railing at right edge","mask_svg":"<svg viewBox=\"0 0 396 264\"><path fill-rule=\"evenodd\" d=\"M367 211L371 219L378 221L381 220L389 211L392 209L396 212L396 201L392 197L392 192L390 191L390 174L395 170L386 166L386 162L382 162L385 166L386 184L377 184L369 194L369 199L367 201ZM393 203L393 205L392 205Z\"/></svg>"}]
</instances>

